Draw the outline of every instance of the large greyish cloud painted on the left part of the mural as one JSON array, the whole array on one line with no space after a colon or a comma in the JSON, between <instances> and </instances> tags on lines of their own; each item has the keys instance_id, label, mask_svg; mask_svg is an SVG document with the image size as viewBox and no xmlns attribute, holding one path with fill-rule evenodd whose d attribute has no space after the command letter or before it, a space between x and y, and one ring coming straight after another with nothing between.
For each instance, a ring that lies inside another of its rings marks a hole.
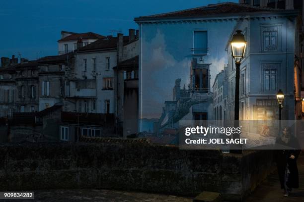
<instances>
[{"instance_id":1,"label":"large greyish cloud painted on the left part of the mural","mask_svg":"<svg viewBox=\"0 0 304 202\"><path fill-rule=\"evenodd\" d=\"M151 42L143 42L142 54L146 56L143 58L141 75L142 118L159 118L164 101L173 100L175 80L181 78L181 86L188 86L191 59L178 61L166 51L164 35L159 29Z\"/></svg>"}]
</instances>

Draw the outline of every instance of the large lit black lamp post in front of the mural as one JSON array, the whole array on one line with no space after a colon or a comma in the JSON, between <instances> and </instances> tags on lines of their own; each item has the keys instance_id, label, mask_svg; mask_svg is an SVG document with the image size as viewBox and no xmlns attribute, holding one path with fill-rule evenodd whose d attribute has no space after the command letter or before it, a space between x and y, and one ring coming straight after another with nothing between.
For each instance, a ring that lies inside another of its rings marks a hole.
<instances>
[{"instance_id":1,"label":"large lit black lamp post in front of the mural","mask_svg":"<svg viewBox=\"0 0 304 202\"><path fill-rule=\"evenodd\" d=\"M241 30L236 30L230 41L232 57L235 60L235 96L234 96L234 127L238 127L239 119L239 68L240 62L244 57L246 50L246 41ZM239 134L233 134L233 138L239 138ZM241 150L235 150L234 153L241 153Z\"/></svg>"}]
</instances>

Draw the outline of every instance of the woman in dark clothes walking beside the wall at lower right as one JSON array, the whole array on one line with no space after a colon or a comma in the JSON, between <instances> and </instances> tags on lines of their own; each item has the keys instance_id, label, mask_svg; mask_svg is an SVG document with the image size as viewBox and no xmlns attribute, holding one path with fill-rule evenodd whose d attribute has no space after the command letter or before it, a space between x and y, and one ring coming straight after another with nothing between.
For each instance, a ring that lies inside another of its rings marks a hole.
<instances>
[{"instance_id":1,"label":"woman in dark clothes walking beside the wall at lower right","mask_svg":"<svg viewBox=\"0 0 304 202\"><path fill-rule=\"evenodd\" d=\"M284 196L288 197L293 188L299 188L297 159L301 150L297 138L292 136L287 127L282 128L282 134L276 139L276 144L281 148L276 151L275 156L281 189L284 189Z\"/></svg>"}]
</instances>

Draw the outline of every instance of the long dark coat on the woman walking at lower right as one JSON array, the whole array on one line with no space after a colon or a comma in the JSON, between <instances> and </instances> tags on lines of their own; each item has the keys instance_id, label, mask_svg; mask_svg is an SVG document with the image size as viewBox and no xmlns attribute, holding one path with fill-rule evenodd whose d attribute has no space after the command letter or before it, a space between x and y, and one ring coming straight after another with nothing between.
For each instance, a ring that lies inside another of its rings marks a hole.
<instances>
[{"instance_id":1,"label":"long dark coat on the woman walking at lower right","mask_svg":"<svg viewBox=\"0 0 304 202\"><path fill-rule=\"evenodd\" d=\"M276 144L295 148L291 150L276 151L275 160L278 167L281 189L284 189L284 175L285 175L287 163L289 165L290 175L286 184L289 188L299 188L299 173L298 173L297 159L301 153L301 150L299 150L298 140L292 137L289 143L286 144L285 142L282 141L281 138L277 138ZM294 155L295 158L291 159L290 158L291 155Z\"/></svg>"}]
</instances>

